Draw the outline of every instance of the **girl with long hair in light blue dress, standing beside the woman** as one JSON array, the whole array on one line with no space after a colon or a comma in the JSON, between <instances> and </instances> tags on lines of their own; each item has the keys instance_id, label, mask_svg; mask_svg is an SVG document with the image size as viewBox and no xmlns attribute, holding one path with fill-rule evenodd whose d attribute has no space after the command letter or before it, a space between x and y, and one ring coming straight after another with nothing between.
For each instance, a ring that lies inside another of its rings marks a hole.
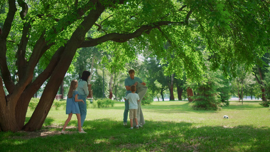
<instances>
[{"instance_id":1,"label":"girl with long hair in light blue dress, standing beside the woman","mask_svg":"<svg viewBox=\"0 0 270 152\"><path fill-rule=\"evenodd\" d=\"M78 102L82 101L83 103L84 100L78 99L78 91L76 90L78 87L78 81L72 80L70 83L69 91L67 94L67 99L66 99L66 114L68 115L68 118L65 122L65 125L63 129L61 130L61 134L65 134L65 128L69 121L71 120L72 114L75 113L77 119L78 119L78 130L79 133L86 133L85 131L82 130L81 127L81 113L79 109L79 104Z\"/></svg>"}]
</instances>

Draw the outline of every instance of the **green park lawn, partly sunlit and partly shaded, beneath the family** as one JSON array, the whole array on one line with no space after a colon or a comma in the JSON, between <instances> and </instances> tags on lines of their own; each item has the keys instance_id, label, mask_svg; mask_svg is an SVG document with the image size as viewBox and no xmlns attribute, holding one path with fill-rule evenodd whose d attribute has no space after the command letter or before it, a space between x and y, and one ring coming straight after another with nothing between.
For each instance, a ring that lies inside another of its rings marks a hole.
<instances>
[{"instance_id":1,"label":"green park lawn, partly sunlit and partly shaded, beneath the family","mask_svg":"<svg viewBox=\"0 0 270 152\"><path fill-rule=\"evenodd\" d=\"M124 102L91 108L84 130L76 130L73 115L52 108L41 131L0 132L0 151L269 151L270 110L256 101L230 102L219 111L197 111L186 101L153 102L142 106L146 124L123 126ZM27 112L27 120L32 110ZM229 119L222 119L227 115ZM128 125L129 122L128 122Z\"/></svg>"}]
</instances>

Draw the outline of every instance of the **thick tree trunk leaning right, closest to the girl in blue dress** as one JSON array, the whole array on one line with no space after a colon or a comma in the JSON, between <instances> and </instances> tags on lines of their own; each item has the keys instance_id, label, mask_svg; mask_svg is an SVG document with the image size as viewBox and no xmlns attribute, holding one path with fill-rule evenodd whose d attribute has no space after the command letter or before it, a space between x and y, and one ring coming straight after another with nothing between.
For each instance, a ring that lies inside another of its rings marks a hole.
<instances>
[{"instance_id":1,"label":"thick tree trunk leaning right, closest to the girl in blue dress","mask_svg":"<svg viewBox=\"0 0 270 152\"><path fill-rule=\"evenodd\" d=\"M29 122L24 126L25 131L34 131L42 128L53 104L54 97L57 94L58 88L63 81L76 50L82 42L85 41L84 37L86 32L92 27L91 25L94 25L104 9L105 8L103 6L98 4L96 6L96 10L91 10L81 25L73 32L70 40L64 47L64 53L62 54L48 84L44 89L40 102L38 102ZM59 49L62 49L62 47Z\"/></svg>"}]
</instances>

